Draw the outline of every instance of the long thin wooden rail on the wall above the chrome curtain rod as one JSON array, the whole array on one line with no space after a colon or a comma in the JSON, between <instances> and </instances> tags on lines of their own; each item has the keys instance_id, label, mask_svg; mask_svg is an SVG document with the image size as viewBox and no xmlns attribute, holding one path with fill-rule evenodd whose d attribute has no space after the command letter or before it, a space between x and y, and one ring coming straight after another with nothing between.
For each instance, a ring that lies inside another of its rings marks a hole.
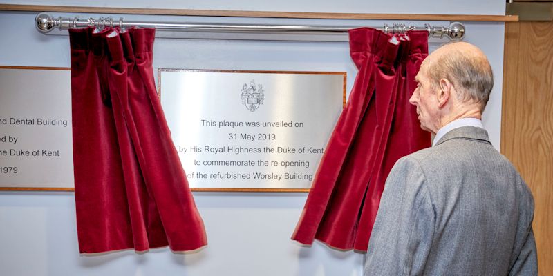
<instances>
[{"instance_id":1,"label":"long thin wooden rail on the wall above the chrome curtain rod","mask_svg":"<svg viewBox=\"0 0 553 276\"><path fill-rule=\"evenodd\" d=\"M516 15L473 15L473 14L373 14L338 12L266 12L253 10L184 10L146 8L108 8L79 6L35 6L0 4L0 10L26 12L82 12L100 14L156 14L187 15L202 17L270 17L308 19L371 19L371 20L436 20L436 21L518 21Z\"/></svg>"}]
</instances>

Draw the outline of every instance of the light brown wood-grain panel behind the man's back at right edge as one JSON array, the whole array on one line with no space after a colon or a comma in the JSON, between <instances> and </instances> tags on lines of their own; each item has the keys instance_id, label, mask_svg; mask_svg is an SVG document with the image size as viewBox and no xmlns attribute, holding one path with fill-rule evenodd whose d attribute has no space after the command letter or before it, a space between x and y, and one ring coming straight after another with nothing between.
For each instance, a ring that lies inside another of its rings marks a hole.
<instances>
[{"instance_id":1,"label":"light brown wood-grain panel behind the man's back at right edge","mask_svg":"<svg viewBox=\"0 0 553 276\"><path fill-rule=\"evenodd\" d=\"M505 26L501 152L535 201L540 275L553 275L553 22Z\"/></svg>"}]
</instances>

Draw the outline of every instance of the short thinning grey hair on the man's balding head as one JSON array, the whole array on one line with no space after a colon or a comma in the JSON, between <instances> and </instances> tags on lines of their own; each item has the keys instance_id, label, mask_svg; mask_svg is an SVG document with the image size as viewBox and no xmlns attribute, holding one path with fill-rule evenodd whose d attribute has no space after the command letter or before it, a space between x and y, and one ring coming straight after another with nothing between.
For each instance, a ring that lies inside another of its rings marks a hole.
<instances>
[{"instance_id":1,"label":"short thinning grey hair on the man's balding head","mask_svg":"<svg viewBox=\"0 0 553 276\"><path fill-rule=\"evenodd\" d=\"M429 68L428 75L432 86L438 88L440 79L447 79L459 92L457 96L460 101L479 103L480 110L483 111L489 100L491 88L494 87L494 73L489 61L483 54L464 55L455 48L451 48L450 53L440 55Z\"/></svg>"}]
</instances>

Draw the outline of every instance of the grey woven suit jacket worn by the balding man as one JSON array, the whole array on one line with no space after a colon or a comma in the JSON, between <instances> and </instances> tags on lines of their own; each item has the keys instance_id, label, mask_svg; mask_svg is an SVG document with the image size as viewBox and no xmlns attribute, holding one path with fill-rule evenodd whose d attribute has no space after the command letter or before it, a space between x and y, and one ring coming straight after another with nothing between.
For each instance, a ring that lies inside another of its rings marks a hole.
<instances>
[{"instance_id":1,"label":"grey woven suit jacket worn by the balding man","mask_svg":"<svg viewBox=\"0 0 553 276\"><path fill-rule=\"evenodd\" d=\"M365 275L537 275L534 199L486 130L447 132L386 180Z\"/></svg>"}]
</instances>

